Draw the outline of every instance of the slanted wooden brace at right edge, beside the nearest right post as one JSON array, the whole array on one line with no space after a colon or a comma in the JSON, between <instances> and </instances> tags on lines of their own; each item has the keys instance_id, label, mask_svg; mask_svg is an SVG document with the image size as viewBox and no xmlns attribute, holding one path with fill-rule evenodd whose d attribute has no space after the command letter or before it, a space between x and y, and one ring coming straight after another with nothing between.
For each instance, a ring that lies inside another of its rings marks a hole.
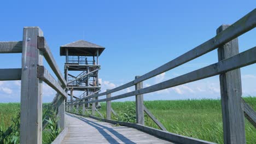
<instances>
[{"instance_id":1,"label":"slanted wooden brace at right edge, beside the nearest right post","mask_svg":"<svg viewBox=\"0 0 256 144\"><path fill-rule=\"evenodd\" d=\"M243 100L243 98L241 98L241 106L245 117L254 126L254 128L256 128L256 112L245 102L245 100Z\"/></svg>"}]
</instances>

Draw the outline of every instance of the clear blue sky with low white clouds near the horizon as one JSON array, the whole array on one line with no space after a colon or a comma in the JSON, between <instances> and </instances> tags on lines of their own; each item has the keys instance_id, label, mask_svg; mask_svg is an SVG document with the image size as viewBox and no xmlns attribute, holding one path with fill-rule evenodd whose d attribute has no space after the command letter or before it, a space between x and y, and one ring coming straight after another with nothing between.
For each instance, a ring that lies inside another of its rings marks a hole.
<instances>
[{"instance_id":1,"label":"clear blue sky with low white clouds near the horizon","mask_svg":"<svg viewBox=\"0 0 256 144\"><path fill-rule=\"evenodd\" d=\"M22 28L39 26L63 72L59 47L80 39L106 47L100 57L102 91L171 61L216 35L255 8L256 1L3 1L0 41L22 40ZM255 46L255 29L238 38L240 52ZM0 54L0 68L20 68L21 54ZM144 87L218 61L217 50L144 81ZM46 62L44 62L46 64ZM49 68L48 68L49 69ZM256 95L256 65L241 69L243 95ZM114 93L132 91L134 88ZM79 94L79 93L75 93ZM53 89L44 85L43 100ZM219 98L218 76L164 91L145 100ZM123 100L133 100L126 98ZM20 81L0 82L0 102L20 101Z\"/></svg>"}]
</instances>

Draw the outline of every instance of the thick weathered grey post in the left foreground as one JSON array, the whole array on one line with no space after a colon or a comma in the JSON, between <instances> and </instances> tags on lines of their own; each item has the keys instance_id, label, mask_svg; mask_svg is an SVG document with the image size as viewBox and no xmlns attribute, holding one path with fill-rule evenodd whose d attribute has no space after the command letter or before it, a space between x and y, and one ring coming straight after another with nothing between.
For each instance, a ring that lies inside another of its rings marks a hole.
<instances>
[{"instance_id":1,"label":"thick weathered grey post in the left foreground","mask_svg":"<svg viewBox=\"0 0 256 144\"><path fill-rule=\"evenodd\" d=\"M42 143L42 80L37 78L37 65L43 65L37 48L39 27L24 27L22 44L20 143Z\"/></svg>"}]
</instances>

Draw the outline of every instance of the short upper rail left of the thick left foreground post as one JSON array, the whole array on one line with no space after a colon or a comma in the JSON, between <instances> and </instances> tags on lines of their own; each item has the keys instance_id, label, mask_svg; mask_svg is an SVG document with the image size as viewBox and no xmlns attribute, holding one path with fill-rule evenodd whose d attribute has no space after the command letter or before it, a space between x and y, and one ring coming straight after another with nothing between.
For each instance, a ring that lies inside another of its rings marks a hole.
<instances>
[{"instance_id":1,"label":"short upper rail left of the thick left foreground post","mask_svg":"<svg viewBox=\"0 0 256 144\"><path fill-rule=\"evenodd\" d=\"M0 41L0 53L21 53L22 41Z\"/></svg>"}]
</instances>

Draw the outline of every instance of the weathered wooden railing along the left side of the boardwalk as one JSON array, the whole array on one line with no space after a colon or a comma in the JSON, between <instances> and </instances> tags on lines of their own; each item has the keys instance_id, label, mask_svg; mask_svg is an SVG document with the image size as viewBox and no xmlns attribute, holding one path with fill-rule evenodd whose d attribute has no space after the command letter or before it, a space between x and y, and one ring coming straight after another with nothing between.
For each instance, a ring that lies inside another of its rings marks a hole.
<instances>
[{"instance_id":1,"label":"weathered wooden railing along the left side of the boardwalk","mask_svg":"<svg viewBox=\"0 0 256 144\"><path fill-rule=\"evenodd\" d=\"M0 80L21 80L20 143L42 143L43 81L57 92L53 105L61 129L65 128L66 81L39 27L25 27L22 41L0 42L0 53L22 53L22 68L0 69ZM59 81L45 69L43 57Z\"/></svg>"}]
</instances>

